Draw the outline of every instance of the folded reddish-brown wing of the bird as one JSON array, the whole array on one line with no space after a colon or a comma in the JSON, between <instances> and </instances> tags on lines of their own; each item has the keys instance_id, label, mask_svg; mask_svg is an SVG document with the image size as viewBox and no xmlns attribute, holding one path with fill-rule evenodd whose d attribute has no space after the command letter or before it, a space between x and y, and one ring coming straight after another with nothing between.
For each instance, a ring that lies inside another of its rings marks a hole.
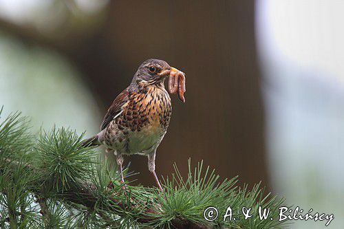
<instances>
[{"instance_id":1,"label":"folded reddish-brown wing of the bird","mask_svg":"<svg viewBox=\"0 0 344 229\"><path fill-rule=\"evenodd\" d=\"M124 91L122 91L112 102L109 109L107 109L107 114L104 117L103 123L100 126L100 130L103 131L109 125L109 123L116 118L121 112L122 107L125 105L125 103L129 100L129 90L126 88Z\"/></svg>"}]
</instances>

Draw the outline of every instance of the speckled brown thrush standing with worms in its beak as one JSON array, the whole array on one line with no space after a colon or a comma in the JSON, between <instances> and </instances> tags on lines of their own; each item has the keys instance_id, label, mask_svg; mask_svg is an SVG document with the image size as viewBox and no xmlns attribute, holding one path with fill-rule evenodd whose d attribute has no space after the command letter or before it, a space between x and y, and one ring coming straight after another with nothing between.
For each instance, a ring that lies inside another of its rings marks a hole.
<instances>
[{"instance_id":1,"label":"speckled brown thrush standing with worms in its beak","mask_svg":"<svg viewBox=\"0 0 344 229\"><path fill-rule=\"evenodd\" d=\"M168 76L172 84L177 82L175 76L182 76L185 83L184 72L166 61L153 58L144 61L129 87L118 94L107 109L100 132L84 142L85 146L105 145L107 153L116 155L122 183L123 155L144 155L148 157L148 169L158 188L163 190L155 173L155 155L171 120L171 98L164 87ZM185 85L183 89L185 91ZM185 102L184 96L180 100Z\"/></svg>"}]
</instances>

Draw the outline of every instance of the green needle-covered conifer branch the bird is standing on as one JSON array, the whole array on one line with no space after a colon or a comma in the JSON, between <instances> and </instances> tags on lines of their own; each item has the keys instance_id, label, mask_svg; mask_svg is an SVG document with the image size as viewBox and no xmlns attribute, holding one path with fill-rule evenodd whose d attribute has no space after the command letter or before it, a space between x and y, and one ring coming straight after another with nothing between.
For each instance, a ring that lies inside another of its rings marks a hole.
<instances>
[{"instance_id":1,"label":"green needle-covered conifer branch the bird is standing on","mask_svg":"<svg viewBox=\"0 0 344 229\"><path fill-rule=\"evenodd\" d=\"M24 125L26 123L26 125ZM42 131L34 142L28 122L14 113L0 124L0 225L18 228L281 228L258 216L236 221L206 221L208 206L271 208L283 201L264 195L259 185L236 186L237 177L219 182L202 162L184 178L175 173L158 188L118 182L116 166L83 146L83 135L69 129ZM25 143L25 144L24 144ZM126 169L127 172L127 169ZM127 173L128 175L128 173ZM111 188L109 183L112 182ZM36 198L34 198L36 196ZM38 201L38 204L36 203ZM40 213L41 212L41 213Z\"/></svg>"}]
</instances>

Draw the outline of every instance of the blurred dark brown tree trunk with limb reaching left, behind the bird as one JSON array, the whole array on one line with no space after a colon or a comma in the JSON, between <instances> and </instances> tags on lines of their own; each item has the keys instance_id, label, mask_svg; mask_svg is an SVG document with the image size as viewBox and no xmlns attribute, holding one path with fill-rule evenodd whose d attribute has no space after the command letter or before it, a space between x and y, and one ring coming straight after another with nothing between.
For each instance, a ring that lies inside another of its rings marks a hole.
<instances>
[{"instance_id":1,"label":"blurred dark brown tree trunk with limb reaching left, behind the bird","mask_svg":"<svg viewBox=\"0 0 344 229\"><path fill-rule=\"evenodd\" d=\"M186 72L186 103L173 100L169 131L158 148L157 172L173 162L186 174L189 157L224 177L268 184L264 106L255 47L254 1L111 1L88 34L42 38L28 28L1 28L67 56L105 110L147 58ZM98 109L95 107L94 109ZM100 123L101 120L98 120ZM153 184L147 158L125 157L142 184Z\"/></svg>"}]
</instances>

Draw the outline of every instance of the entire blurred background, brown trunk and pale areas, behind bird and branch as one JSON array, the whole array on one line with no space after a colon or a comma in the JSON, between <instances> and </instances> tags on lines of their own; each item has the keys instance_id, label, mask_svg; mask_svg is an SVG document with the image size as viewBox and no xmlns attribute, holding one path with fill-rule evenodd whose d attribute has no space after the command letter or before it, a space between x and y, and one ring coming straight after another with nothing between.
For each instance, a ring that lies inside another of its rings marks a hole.
<instances>
[{"instance_id":1,"label":"entire blurred background, brown trunk and pale areas, behind bird and branch","mask_svg":"<svg viewBox=\"0 0 344 229\"><path fill-rule=\"evenodd\" d=\"M189 157L344 227L344 1L0 0L0 105L94 135L142 61L186 72L157 171ZM153 185L147 159L126 157ZM290 228L324 228L297 221Z\"/></svg>"}]
</instances>

